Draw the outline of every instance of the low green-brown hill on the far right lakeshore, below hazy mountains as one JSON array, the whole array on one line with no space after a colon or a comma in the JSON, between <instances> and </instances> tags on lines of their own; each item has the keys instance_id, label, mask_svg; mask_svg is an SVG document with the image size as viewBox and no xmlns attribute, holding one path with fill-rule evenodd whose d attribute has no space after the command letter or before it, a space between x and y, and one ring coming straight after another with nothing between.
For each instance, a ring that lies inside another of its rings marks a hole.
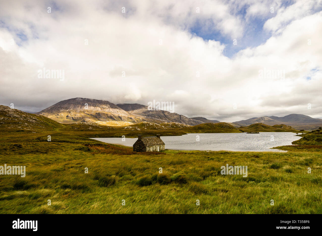
<instances>
[{"instance_id":1,"label":"low green-brown hill on the far right lakeshore, below hazy mountains","mask_svg":"<svg viewBox=\"0 0 322 236\"><path fill-rule=\"evenodd\" d=\"M239 127L239 130L243 132L298 132L288 125L273 125L269 126L263 123L256 123L246 127Z\"/></svg>"}]
</instances>

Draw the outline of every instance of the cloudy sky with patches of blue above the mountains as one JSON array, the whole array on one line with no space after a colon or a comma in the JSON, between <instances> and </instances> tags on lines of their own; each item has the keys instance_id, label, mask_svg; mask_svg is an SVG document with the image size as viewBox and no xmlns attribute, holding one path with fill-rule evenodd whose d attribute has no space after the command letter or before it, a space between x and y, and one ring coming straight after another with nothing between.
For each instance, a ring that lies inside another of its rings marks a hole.
<instances>
[{"instance_id":1,"label":"cloudy sky with patches of blue above the mountains","mask_svg":"<svg viewBox=\"0 0 322 236\"><path fill-rule=\"evenodd\" d=\"M155 100L225 122L322 118L321 40L321 0L0 0L0 104Z\"/></svg>"}]
</instances>

